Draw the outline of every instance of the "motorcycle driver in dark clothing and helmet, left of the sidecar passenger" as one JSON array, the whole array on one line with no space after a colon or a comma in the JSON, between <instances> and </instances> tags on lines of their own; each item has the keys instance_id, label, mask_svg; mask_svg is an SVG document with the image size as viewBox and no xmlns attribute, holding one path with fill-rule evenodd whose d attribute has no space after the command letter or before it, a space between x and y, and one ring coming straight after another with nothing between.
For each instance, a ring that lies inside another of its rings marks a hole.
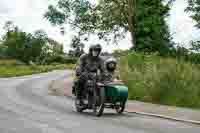
<instances>
[{"instance_id":1,"label":"motorcycle driver in dark clothing and helmet, left of the sidecar passenger","mask_svg":"<svg viewBox=\"0 0 200 133\"><path fill-rule=\"evenodd\" d=\"M100 44L92 45L89 48L88 54L83 54L79 58L77 68L76 68L76 77L77 81L73 87L73 94L75 93L75 87L77 88L77 99L79 104L83 103L83 91L84 84L88 79L88 73L94 69L100 70L100 73L104 73L104 63L103 59L100 57L102 47Z\"/></svg>"}]
</instances>

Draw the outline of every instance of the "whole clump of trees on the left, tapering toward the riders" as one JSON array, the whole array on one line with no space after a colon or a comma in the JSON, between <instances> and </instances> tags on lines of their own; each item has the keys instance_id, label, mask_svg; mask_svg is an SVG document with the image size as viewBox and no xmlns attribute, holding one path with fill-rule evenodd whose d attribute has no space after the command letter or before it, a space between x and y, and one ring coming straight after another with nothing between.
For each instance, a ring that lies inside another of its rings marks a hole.
<instances>
[{"instance_id":1,"label":"whole clump of trees on the left, tapering toward the riders","mask_svg":"<svg viewBox=\"0 0 200 133\"><path fill-rule=\"evenodd\" d=\"M11 21L6 22L5 34L0 45L0 53L25 63L45 63L47 58L63 54L63 46L48 38L43 30L26 33Z\"/></svg>"}]
</instances>

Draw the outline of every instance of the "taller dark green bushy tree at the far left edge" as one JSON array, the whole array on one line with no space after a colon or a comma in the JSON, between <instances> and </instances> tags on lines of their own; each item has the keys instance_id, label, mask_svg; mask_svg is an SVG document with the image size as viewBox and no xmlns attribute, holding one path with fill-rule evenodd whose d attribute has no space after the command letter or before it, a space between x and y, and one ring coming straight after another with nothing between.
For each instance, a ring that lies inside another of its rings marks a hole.
<instances>
[{"instance_id":1,"label":"taller dark green bushy tree at the far left edge","mask_svg":"<svg viewBox=\"0 0 200 133\"><path fill-rule=\"evenodd\" d=\"M6 33L1 47L4 48L7 56L28 64L30 61L36 62L37 58L44 53L43 47L46 45L47 38L45 32L38 30L32 35L23 32L10 21L6 22L4 29Z\"/></svg>"}]
</instances>

